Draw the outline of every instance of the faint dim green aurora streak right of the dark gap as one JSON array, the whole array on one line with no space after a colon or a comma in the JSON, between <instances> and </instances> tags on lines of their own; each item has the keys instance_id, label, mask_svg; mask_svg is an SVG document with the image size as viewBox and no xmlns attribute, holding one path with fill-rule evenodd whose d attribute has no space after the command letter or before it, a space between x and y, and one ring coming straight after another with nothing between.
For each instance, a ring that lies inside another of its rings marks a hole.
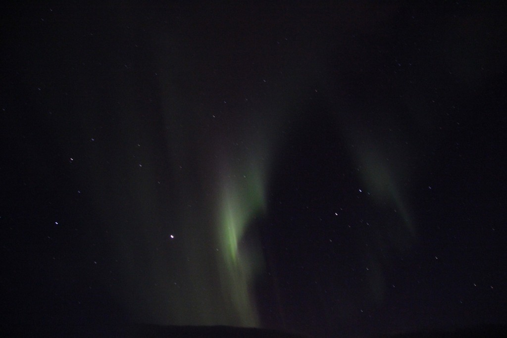
<instances>
[{"instance_id":1,"label":"faint dim green aurora streak right of the dark gap","mask_svg":"<svg viewBox=\"0 0 507 338\"><path fill-rule=\"evenodd\" d=\"M410 170L403 148L392 146L382 138L372 139L369 132L360 128L350 128L345 133L354 144L352 156L357 161L364 184L361 190L368 193L369 200L384 213L380 221L387 227L377 228L375 247L377 250L386 247L407 250L417 237L417 228L404 197L404 185ZM370 250L366 252L371 265L369 283L376 301L382 302L387 291L384 266L389 265L389 261L378 255L378 251Z\"/></svg>"}]
</instances>

